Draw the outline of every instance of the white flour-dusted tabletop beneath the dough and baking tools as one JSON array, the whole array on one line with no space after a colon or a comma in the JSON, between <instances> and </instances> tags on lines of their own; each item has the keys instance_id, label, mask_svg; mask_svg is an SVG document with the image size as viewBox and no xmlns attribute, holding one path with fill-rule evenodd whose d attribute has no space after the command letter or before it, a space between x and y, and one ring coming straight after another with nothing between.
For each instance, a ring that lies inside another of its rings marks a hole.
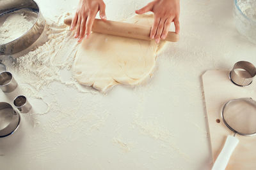
<instances>
[{"instance_id":1,"label":"white flour-dusted tabletop beneath the dough and baking tools","mask_svg":"<svg viewBox=\"0 0 256 170\"><path fill-rule=\"evenodd\" d=\"M53 19L77 6L71 0L37 2ZM106 0L107 17L130 17L147 2ZM231 69L239 60L256 64L256 45L236 31L232 0L180 3L180 41L159 55L147 83L119 85L107 95L51 83L45 97L60 108L21 115L18 131L0 139L0 169L211 169L201 75Z\"/></svg>"}]
</instances>

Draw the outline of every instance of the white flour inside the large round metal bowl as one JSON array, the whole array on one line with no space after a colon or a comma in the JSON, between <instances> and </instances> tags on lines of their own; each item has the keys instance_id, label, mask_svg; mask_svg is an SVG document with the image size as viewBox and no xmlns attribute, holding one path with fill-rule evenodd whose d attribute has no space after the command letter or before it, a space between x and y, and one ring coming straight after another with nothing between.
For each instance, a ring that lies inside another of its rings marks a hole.
<instances>
[{"instance_id":1,"label":"white flour inside the large round metal bowl","mask_svg":"<svg viewBox=\"0 0 256 170\"><path fill-rule=\"evenodd\" d=\"M35 18L28 10L18 10L0 16L0 44L13 41L29 31L35 23Z\"/></svg>"}]
</instances>

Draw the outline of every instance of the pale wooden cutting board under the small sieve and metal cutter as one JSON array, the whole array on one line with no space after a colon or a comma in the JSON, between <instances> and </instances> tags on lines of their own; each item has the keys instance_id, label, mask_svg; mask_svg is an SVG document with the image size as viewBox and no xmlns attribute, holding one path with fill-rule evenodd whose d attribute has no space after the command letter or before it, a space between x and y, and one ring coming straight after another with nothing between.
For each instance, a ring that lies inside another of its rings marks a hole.
<instances>
[{"instance_id":1,"label":"pale wooden cutting board under the small sieve and metal cutter","mask_svg":"<svg viewBox=\"0 0 256 170\"><path fill-rule=\"evenodd\" d=\"M203 74L205 105L209 122L212 157L215 161L228 135L233 135L221 120L221 110L227 101L241 97L256 99L256 82L247 87L234 85L229 79L230 71L212 70ZM218 123L220 120L220 123ZM256 136L239 136L239 143L228 162L227 170L256 169Z\"/></svg>"}]
</instances>

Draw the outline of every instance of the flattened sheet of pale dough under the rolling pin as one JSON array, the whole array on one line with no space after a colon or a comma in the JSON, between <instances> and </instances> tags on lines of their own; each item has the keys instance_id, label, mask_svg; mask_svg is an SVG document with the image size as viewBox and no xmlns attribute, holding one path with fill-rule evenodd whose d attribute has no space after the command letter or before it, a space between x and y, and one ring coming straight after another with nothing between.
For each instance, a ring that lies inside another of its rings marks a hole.
<instances>
[{"instance_id":1,"label":"flattened sheet of pale dough under the rolling pin","mask_svg":"<svg viewBox=\"0 0 256 170\"><path fill-rule=\"evenodd\" d=\"M134 15L123 22L152 25L154 15ZM138 84L154 69L156 55L164 43L92 33L78 47L74 78L102 92L117 84Z\"/></svg>"}]
</instances>

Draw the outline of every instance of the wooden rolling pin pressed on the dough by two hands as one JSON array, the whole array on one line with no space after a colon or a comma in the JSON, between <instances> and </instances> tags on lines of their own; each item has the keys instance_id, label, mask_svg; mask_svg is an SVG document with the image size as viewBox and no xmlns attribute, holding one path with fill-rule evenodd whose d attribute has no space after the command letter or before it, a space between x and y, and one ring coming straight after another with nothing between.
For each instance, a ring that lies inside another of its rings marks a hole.
<instances>
[{"instance_id":1,"label":"wooden rolling pin pressed on the dough by two hands","mask_svg":"<svg viewBox=\"0 0 256 170\"><path fill-rule=\"evenodd\" d=\"M64 20L64 23L67 25L71 25L71 22L72 22L72 18L70 17L65 18ZM103 21L95 18L92 25L92 31L102 33L102 34L109 34L113 36L144 39L149 41L151 27L146 27L143 25L136 25L136 24L129 24L125 22L116 22L111 20ZM179 34L169 31L165 40L177 42L179 41Z\"/></svg>"}]
</instances>

